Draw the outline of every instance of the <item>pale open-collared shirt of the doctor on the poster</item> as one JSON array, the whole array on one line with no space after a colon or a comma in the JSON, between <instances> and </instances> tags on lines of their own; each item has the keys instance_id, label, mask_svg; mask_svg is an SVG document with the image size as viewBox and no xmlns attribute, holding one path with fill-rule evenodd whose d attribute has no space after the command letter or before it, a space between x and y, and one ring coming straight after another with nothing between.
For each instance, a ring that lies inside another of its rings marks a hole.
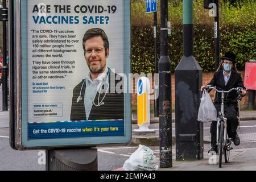
<instances>
[{"instance_id":1,"label":"pale open-collared shirt of the doctor on the poster","mask_svg":"<svg viewBox=\"0 0 256 182\"><path fill-rule=\"evenodd\" d=\"M102 81L104 81L105 78L108 76L108 67L106 67L105 71L101 73L100 76L97 78L94 78L92 81L92 78L90 77L90 73L88 77L86 78L86 89L85 89L85 99L84 99L84 106L85 106L85 114L86 114L86 119L88 120L89 115L90 115L90 110L92 110L93 106L93 101L96 97L96 94L98 90L100 91L100 86L102 84ZM106 80L108 82L108 80ZM95 103L96 105L98 102Z\"/></svg>"}]
</instances>

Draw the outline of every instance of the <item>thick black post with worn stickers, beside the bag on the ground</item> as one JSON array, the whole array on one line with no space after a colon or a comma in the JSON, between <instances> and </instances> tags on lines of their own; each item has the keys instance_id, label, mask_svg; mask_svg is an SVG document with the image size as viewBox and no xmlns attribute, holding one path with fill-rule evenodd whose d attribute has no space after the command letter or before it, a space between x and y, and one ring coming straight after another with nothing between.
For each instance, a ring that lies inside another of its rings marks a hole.
<instances>
[{"instance_id":1,"label":"thick black post with worn stickers, beside the bag on the ground","mask_svg":"<svg viewBox=\"0 0 256 182\"><path fill-rule=\"evenodd\" d=\"M159 60L160 168L172 167L171 60L168 56L168 0L161 0L161 56Z\"/></svg>"}]
</instances>

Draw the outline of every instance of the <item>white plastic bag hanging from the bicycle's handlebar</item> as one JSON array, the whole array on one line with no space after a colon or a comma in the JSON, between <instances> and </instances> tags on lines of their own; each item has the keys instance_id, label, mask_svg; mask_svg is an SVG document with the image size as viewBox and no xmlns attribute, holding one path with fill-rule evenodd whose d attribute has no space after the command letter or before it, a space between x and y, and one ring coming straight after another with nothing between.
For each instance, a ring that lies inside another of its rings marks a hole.
<instances>
[{"instance_id":1,"label":"white plastic bag hanging from the bicycle's handlebar","mask_svg":"<svg viewBox=\"0 0 256 182\"><path fill-rule=\"evenodd\" d=\"M217 121L216 108L214 107L210 95L206 90L204 90L201 98L197 120L201 122Z\"/></svg>"}]
</instances>

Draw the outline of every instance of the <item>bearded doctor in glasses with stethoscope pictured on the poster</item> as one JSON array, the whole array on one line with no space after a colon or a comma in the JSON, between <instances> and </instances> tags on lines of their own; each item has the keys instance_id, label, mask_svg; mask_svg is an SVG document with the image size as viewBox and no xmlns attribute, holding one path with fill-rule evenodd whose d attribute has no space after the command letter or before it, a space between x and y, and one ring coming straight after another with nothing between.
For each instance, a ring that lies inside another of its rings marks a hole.
<instances>
[{"instance_id":1,"label":"bearded doctor in glasses with stethoscope pictured on the poster","mask_svg":"<svg viewBox=\"0 0 256 182\"><path fill-rule=\"evenodd\" d=\"M89 68L85 78L73 89L71 121L93 121L124 118L123 93L116 87L121 79L108 67L110 43L101 28L87 30L82 38L84 59ZM80 60L79 60L80 61Z\"/></svg>"}]
</instances>

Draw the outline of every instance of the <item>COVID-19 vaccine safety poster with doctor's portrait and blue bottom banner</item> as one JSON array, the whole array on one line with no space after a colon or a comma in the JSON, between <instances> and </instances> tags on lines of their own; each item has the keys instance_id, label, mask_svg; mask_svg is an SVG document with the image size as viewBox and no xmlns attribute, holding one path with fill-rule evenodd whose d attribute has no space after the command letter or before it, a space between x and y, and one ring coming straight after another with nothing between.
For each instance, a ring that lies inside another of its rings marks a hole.
<instances>
[{"instance_id":1,"label":"COVID-19 vaccine safety poster with doctor's portrait and blue bottom banner","mask_svg":"<svg viewBox=\"0 0 256 182\"><path fill-rule=\"evenodd\" d=\"M22 30L27 30L22 32L23 143L128 141L130 96L124 93L123 75L130 72L130 22L125 1L22 3Z\"/></svg>"}]
</instances>

